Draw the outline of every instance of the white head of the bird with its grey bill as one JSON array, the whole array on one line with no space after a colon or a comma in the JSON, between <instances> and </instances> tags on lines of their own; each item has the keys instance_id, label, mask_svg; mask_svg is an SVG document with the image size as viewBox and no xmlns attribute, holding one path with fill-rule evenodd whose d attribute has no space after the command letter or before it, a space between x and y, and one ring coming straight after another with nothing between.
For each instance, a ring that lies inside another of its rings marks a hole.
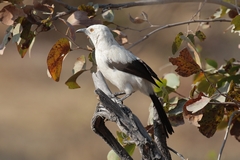
<instances>
[{"instance_id":1,"label":"white head of the bird with its grey bill","mask_svg":"<svg viewBox=\"0 0 240 160\"><path fill-rule=\"evenodd\" d=\"M109 28L102 24L95 24L89 26L88 28L81 28L76 30L76 33L79 32L85 33L91 39L95 47L97 47L99 43L115 42Z\"/></svg>"}]
</instances>

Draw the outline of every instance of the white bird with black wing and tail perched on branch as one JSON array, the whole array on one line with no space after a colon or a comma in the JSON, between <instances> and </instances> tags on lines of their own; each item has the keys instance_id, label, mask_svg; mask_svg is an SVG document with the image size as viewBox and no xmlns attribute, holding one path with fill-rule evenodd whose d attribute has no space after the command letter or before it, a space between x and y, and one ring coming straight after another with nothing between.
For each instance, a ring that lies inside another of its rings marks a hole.
<instances>
[{"instance_id":1,"label":"white bird with black wing and tail perched on branch","mask_svg":"<svg viewBox=\"0 0 240 160\"><path fill-rule=\"evenodd\" d=\"M152 85L158 86L154 79L160 81L157 74L144 61L119 45L107 26L94 24L76 30L76 33L79 32L91 39L95 47L95 61L104 78L115 85L120 90L119 93L125 93L121 100L138 90L149 96L163 124L166 137L168 133L172 134L172 125L153 90Z\"/></svg>"}]
</instances>

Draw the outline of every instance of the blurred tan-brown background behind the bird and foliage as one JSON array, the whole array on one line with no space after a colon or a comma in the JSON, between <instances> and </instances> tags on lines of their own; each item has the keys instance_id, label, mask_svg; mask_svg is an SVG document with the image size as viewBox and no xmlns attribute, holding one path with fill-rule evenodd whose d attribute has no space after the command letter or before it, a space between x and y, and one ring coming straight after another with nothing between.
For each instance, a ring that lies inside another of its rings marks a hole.
<instances>
[{"instance_id":1,"label":"blurred tan-brown background behind the bird and foliage","mask_svg":"<svg viewBox=\"0 0 240 160\"><path fill-rule=\"evenodd\" d=\"M66 1L78 6L87 1ZM117 3L117 1L92 1L94 3ZM128 2L122 0L122 2ZM25 1L30 4L31 0ZM6 4L5 4L6 5ZM144 11L152 24L166 25L191 19L198 10L198 3L171 3L164 5L133 7L115 11L114 22L126 27L142 29L147 24L136 25L129 21L129 14L140 16ZM205 4L202 18L211 16L219 6ZM99 16L98 18L101 19ZM228 17L226 17L228 18ZM54 22L63 31L62 22ZM211 58L223 64L232 57L240 58L238 44L240 38L230 31L228 23L212 23L211 28L203 30L207 39L199 42L203 50L202 58ZM82 27L82 26L79 26ZM190 25L194 30L196 25ZM0 25L0 37L3 38L7 26ZM124 31L131 43L136 42L151 30L144 32ZM169 64L172 56L171 45L179 32L186 33L187 26L168 28L152 35L131 51L148 63L161 77L164 73L174 72L175 67L160 68ZM85 47L88 40L77 35L77 43ZM70 90L64 84L72 74L77 57L88 52L77 50L70 52L63 63L60 81L48 78L46 59L52 45L63 35L54 30L42 33L36 38L32 55L20 58L14 43L9 43L0 56L0 160L93 160L106 159L110 147L90 128L92 115L98 103L94 93L91 74L83 73L78 78L80 89ZM126 46L127 47L127 46ZM90 66L90 64L88 65ZM192 78L181 78L179 92L189 95ZM115 87L110 86L113 91ZM150 98L135 93L125 104L147 124ZM115 134L115 124L107 122ZM218 131L213 137L206 138L198 128L188 123L175 127L175 133L168 139L168 145L194 160L211 160L222 145L224 131ZM229 137L224 149L225 160L235 160L240 156L240 144ZM179 159L172 154L174 160ZM140 159L136 149L134 159Z\"/></svg>"}]
</instances>

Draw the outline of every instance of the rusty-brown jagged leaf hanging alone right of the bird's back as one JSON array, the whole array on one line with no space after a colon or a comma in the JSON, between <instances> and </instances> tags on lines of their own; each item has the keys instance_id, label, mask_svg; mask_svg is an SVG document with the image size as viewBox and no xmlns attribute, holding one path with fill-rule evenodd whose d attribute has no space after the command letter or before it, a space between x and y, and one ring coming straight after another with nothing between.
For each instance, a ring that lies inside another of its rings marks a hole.
<instances>
[{"instance_id":1,"label":"rusty-brown jagged leaf hanging alone right of the bird's back","mask_svg":"<svg viewBox=\"0 0 240 160\"><path fill-rule=\"evenodd\" d=\"M179 57L169 58L169 61L173 65L177 65L178 68L175 70L180 76L188 77L192 74L201 71L200 66L193 60L187 48L184 48Z\"/></svg>"}]
</instances>

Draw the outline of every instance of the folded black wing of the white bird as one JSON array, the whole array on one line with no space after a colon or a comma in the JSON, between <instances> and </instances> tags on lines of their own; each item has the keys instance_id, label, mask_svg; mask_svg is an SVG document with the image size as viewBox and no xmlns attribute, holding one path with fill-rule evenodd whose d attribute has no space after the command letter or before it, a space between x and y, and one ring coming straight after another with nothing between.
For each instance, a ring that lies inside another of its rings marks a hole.
<instances>
[{"instance_id":1,"label":"folded black wing of the white bird","mask_svg":"<svg viewBox=\"0 0 240 160\"><path fill-rule=\"evenodd\" d=\"M110 68L116 68L117 70L133 74L135 76L141 77L143 79L148 80L152 84L157 85L154 81L153 77L159 80L157 74L142 60L136 59L131 63L121 63L121 62L109 62L108 66ZM159 80L160 81L160 80Z\"/></svg>"}]
</instances>

